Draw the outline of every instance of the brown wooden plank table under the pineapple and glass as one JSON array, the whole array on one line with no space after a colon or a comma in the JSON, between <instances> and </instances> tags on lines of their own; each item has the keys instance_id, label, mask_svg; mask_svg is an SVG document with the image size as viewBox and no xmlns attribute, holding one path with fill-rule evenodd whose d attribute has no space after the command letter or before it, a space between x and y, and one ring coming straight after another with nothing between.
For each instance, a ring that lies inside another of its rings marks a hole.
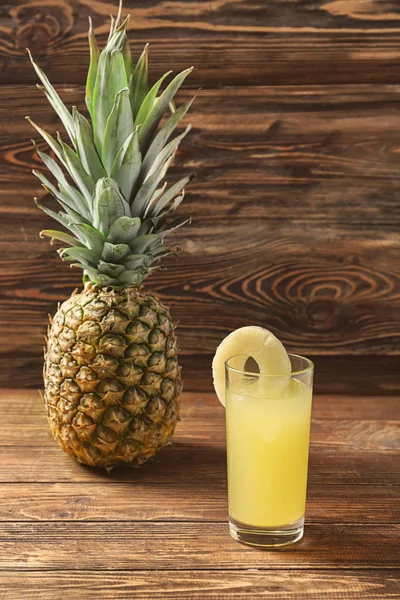
<instances>
[{"instance_id":1,"label":"brown wooden plank table under the pineapple and glass","mask_svg":"<svg viewBox=\"0 0 400 600\"><path fill-rule=\"evenodd\" d=\"M307 525L285 551L227 527L224 411L185 394L172 446L86 468L35 391L0 394L0 598L400 598L400 399L317 396Z\"/></svg>"}]
</instances>

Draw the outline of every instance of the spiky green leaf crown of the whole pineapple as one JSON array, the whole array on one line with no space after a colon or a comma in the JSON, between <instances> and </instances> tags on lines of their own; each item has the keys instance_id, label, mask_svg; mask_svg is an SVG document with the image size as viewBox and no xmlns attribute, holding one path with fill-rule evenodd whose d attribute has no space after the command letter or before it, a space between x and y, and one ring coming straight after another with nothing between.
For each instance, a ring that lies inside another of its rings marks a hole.
<instances>
[{"instance_id":1,"label":"spiky green leaf crown of the whole pineapple","mask_svg":"<svg viewBox=\"0 0 400 600\"><path fill-rule=\"evenodd\" d=\"M41 89L68 136L66 144L57 133L54 139L29 117L55 158L36 151L56 183L34 170L46 191L62 210L55 212L35 202L67 231L44 230L53 243L67 247L58 253L71 266L83 269L83 281L118 288L140 285L163 256L177 250L166 248L167 234L187 223L168 217L182 202L191 176L167 188L162 181L179 143L190 130L169 141L193 102L175 109L173 98L192 71L182 71L159 94L163 75L148 85L148 45L136 64L132 62L126 26L111 17L108 41L100 52L89 19L90 65L86 82L86 106L90 121L77 108L72 113L62 103L44 72L33 67ZM168 119L159 127L164 114ZM57 160L56 160L57 159Z\"/></svg>"}]
</instances>

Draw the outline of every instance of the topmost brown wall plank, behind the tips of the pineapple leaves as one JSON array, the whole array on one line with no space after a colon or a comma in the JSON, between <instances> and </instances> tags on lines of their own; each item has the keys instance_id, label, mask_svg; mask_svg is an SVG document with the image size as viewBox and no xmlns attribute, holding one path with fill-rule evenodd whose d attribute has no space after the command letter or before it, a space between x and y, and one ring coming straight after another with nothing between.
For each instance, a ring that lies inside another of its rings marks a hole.
<instances>
[{"instance_id":1,"label":"topmost brown wall plank, behind the tips of the pineapple leaves","mask_svg":"<svg viewBox=\"0 0 400 600\"><path fill-rule=\"evenodd\" d=\"M0 9L0 73L35 82L29 46L57 83L84 83L87 17L103 44L117 0L13 0ZM191 85L399 81L400 17L395 0L125 0L132 51L151 43L151 75L195 72Z\"/></svg>"}]
</instances>

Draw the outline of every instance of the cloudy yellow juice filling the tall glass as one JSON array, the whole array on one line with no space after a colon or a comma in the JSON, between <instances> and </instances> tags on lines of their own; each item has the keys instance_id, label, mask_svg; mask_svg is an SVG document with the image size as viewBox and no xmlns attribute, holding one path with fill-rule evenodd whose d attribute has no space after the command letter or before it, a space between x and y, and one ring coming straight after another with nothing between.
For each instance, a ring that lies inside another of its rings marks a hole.
<instances>
[{"instance_id":1,"label":"cloudy yellow juice filling the tall glass","mask_svg":"<svg viewBox=\"0 0 400 600\"><path fill-rule=\"evenodd\" d=\"M304 516L312 392L262 379L226 391L229 513L273 528Z\"/></svg>"}]
</instances>

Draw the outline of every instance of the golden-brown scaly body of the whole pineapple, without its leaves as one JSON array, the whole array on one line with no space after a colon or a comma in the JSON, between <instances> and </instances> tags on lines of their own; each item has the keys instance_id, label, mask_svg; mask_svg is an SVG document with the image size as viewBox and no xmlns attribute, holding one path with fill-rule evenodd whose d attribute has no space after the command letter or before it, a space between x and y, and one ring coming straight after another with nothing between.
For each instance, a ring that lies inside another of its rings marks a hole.
<instances>
[{"instance_id":1,"label":"golden-brown scaly body of the whole pineapple, without its leaves","mask_svg":"<svg viewBox=\"0 0 400 600\"><path fill-rule=\"evenodd\" d=\"M138 288L87 285L48 331L44 402L54 438L80 463L140 465L171 438L181 368L167 307Z\"/></svg>"}]
</instances>

